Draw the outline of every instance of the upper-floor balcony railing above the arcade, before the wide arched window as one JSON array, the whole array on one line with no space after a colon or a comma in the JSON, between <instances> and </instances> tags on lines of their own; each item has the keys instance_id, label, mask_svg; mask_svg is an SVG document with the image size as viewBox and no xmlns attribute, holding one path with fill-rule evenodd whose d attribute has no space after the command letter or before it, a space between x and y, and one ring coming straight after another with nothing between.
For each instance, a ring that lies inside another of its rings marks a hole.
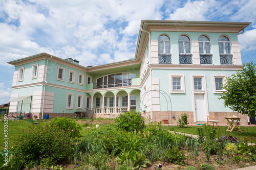
<instances>
[{"instance_id":1,"label":"upper-floor balcony railing above the arcade, before the wide arched window","mask_svg":"<svg viewBox=\"0 0 256 170\"><path fill-rule=\"evenodd\" d=\"M132 79L124 79L121 82L100 82L100 83L93 83L93 89L98 88L110 88L110 87L122 87L122 86L131 86Z\"/></svg>"}]
</instances>

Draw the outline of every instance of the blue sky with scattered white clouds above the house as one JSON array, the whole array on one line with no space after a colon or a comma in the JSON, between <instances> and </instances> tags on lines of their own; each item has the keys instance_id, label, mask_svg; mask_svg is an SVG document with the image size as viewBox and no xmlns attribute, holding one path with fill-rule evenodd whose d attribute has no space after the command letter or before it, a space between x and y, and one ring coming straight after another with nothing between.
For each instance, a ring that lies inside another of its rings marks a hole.
<instances>
[{"instance_id":1,"label":"blue sky with scattered white clouds above the house","mask_svg":"<svg viewBox=\"0 0 256 170\"><path fill-rule=\"evenodd\" d=\"M14 66L39 53L80 65L135 57L141 20L252 22L238 36L242 62L256 64L255 0L1 0L0 104L8 103Z\"/></svg>"}]
</instances>

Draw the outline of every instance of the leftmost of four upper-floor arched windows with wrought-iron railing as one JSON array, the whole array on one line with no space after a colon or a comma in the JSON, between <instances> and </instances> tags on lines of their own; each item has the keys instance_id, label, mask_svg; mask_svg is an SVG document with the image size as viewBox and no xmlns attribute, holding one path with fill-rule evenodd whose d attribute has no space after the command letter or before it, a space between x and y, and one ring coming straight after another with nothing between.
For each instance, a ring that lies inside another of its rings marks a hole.
<instances>
[{"instance_id":1,"label":"leftmost of four upper-floor arched windows with wrought-iron railing","mask_svg":"<svg viewBox=\"0 0 256 170\"><path fill-rule=\"evenodd\" d=\"M172 63L170 54L170 38L166 35L158 37L158 62L159 64Z\"/></svg>"}]
</instances>

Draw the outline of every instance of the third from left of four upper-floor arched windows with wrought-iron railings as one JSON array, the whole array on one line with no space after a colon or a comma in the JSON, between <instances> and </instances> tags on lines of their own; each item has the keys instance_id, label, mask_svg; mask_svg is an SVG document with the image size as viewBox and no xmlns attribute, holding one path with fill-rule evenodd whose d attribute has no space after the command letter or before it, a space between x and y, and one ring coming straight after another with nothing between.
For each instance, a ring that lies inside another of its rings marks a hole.
<instances>
[{"instance_id":1,"label":"third from left of four upper-floor arched windows with wrought-iron railings","mask_svg":"<svg viewBox=\"0 0 256 170\"><path fill-rule=\"evenodd\" d=\"M210 39L204 35L198 38L200 64L212 64L212 55L210 54Z\"/></svg>"}]
</instances>

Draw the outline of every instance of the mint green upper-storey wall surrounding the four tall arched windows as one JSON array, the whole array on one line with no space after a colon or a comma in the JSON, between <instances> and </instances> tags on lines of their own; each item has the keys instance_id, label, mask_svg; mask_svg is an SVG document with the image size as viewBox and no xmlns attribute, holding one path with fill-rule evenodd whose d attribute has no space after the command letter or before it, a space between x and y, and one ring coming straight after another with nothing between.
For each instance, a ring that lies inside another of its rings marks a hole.
<instances>
[{"instance_id":1,"label":"mint green upper-storey wall surrounding the four tall arched windows","mask_svg":"<svg viewBox=\"0 0 256 170\"><path fill-rule=\"evenodd\" d=\"M171 42L171 53L172 53L172 63L179 64L179 46L178 38L181 35L186 35L190 38L190 41L198 40L198 37L201 35L206 35L210 38L211 41L211 52L212 60L215 65L220 65L219 57L219 45L218 38L219 36L225 35L229 38L230 41L238 41L237 33L213 33L213 32L167 32L167 31L152 31L151 39L157 40L158 37L162 34L167 35L170 38ZM231 48L232 52L232 48Z\"/></svg>"}]
</instances>

